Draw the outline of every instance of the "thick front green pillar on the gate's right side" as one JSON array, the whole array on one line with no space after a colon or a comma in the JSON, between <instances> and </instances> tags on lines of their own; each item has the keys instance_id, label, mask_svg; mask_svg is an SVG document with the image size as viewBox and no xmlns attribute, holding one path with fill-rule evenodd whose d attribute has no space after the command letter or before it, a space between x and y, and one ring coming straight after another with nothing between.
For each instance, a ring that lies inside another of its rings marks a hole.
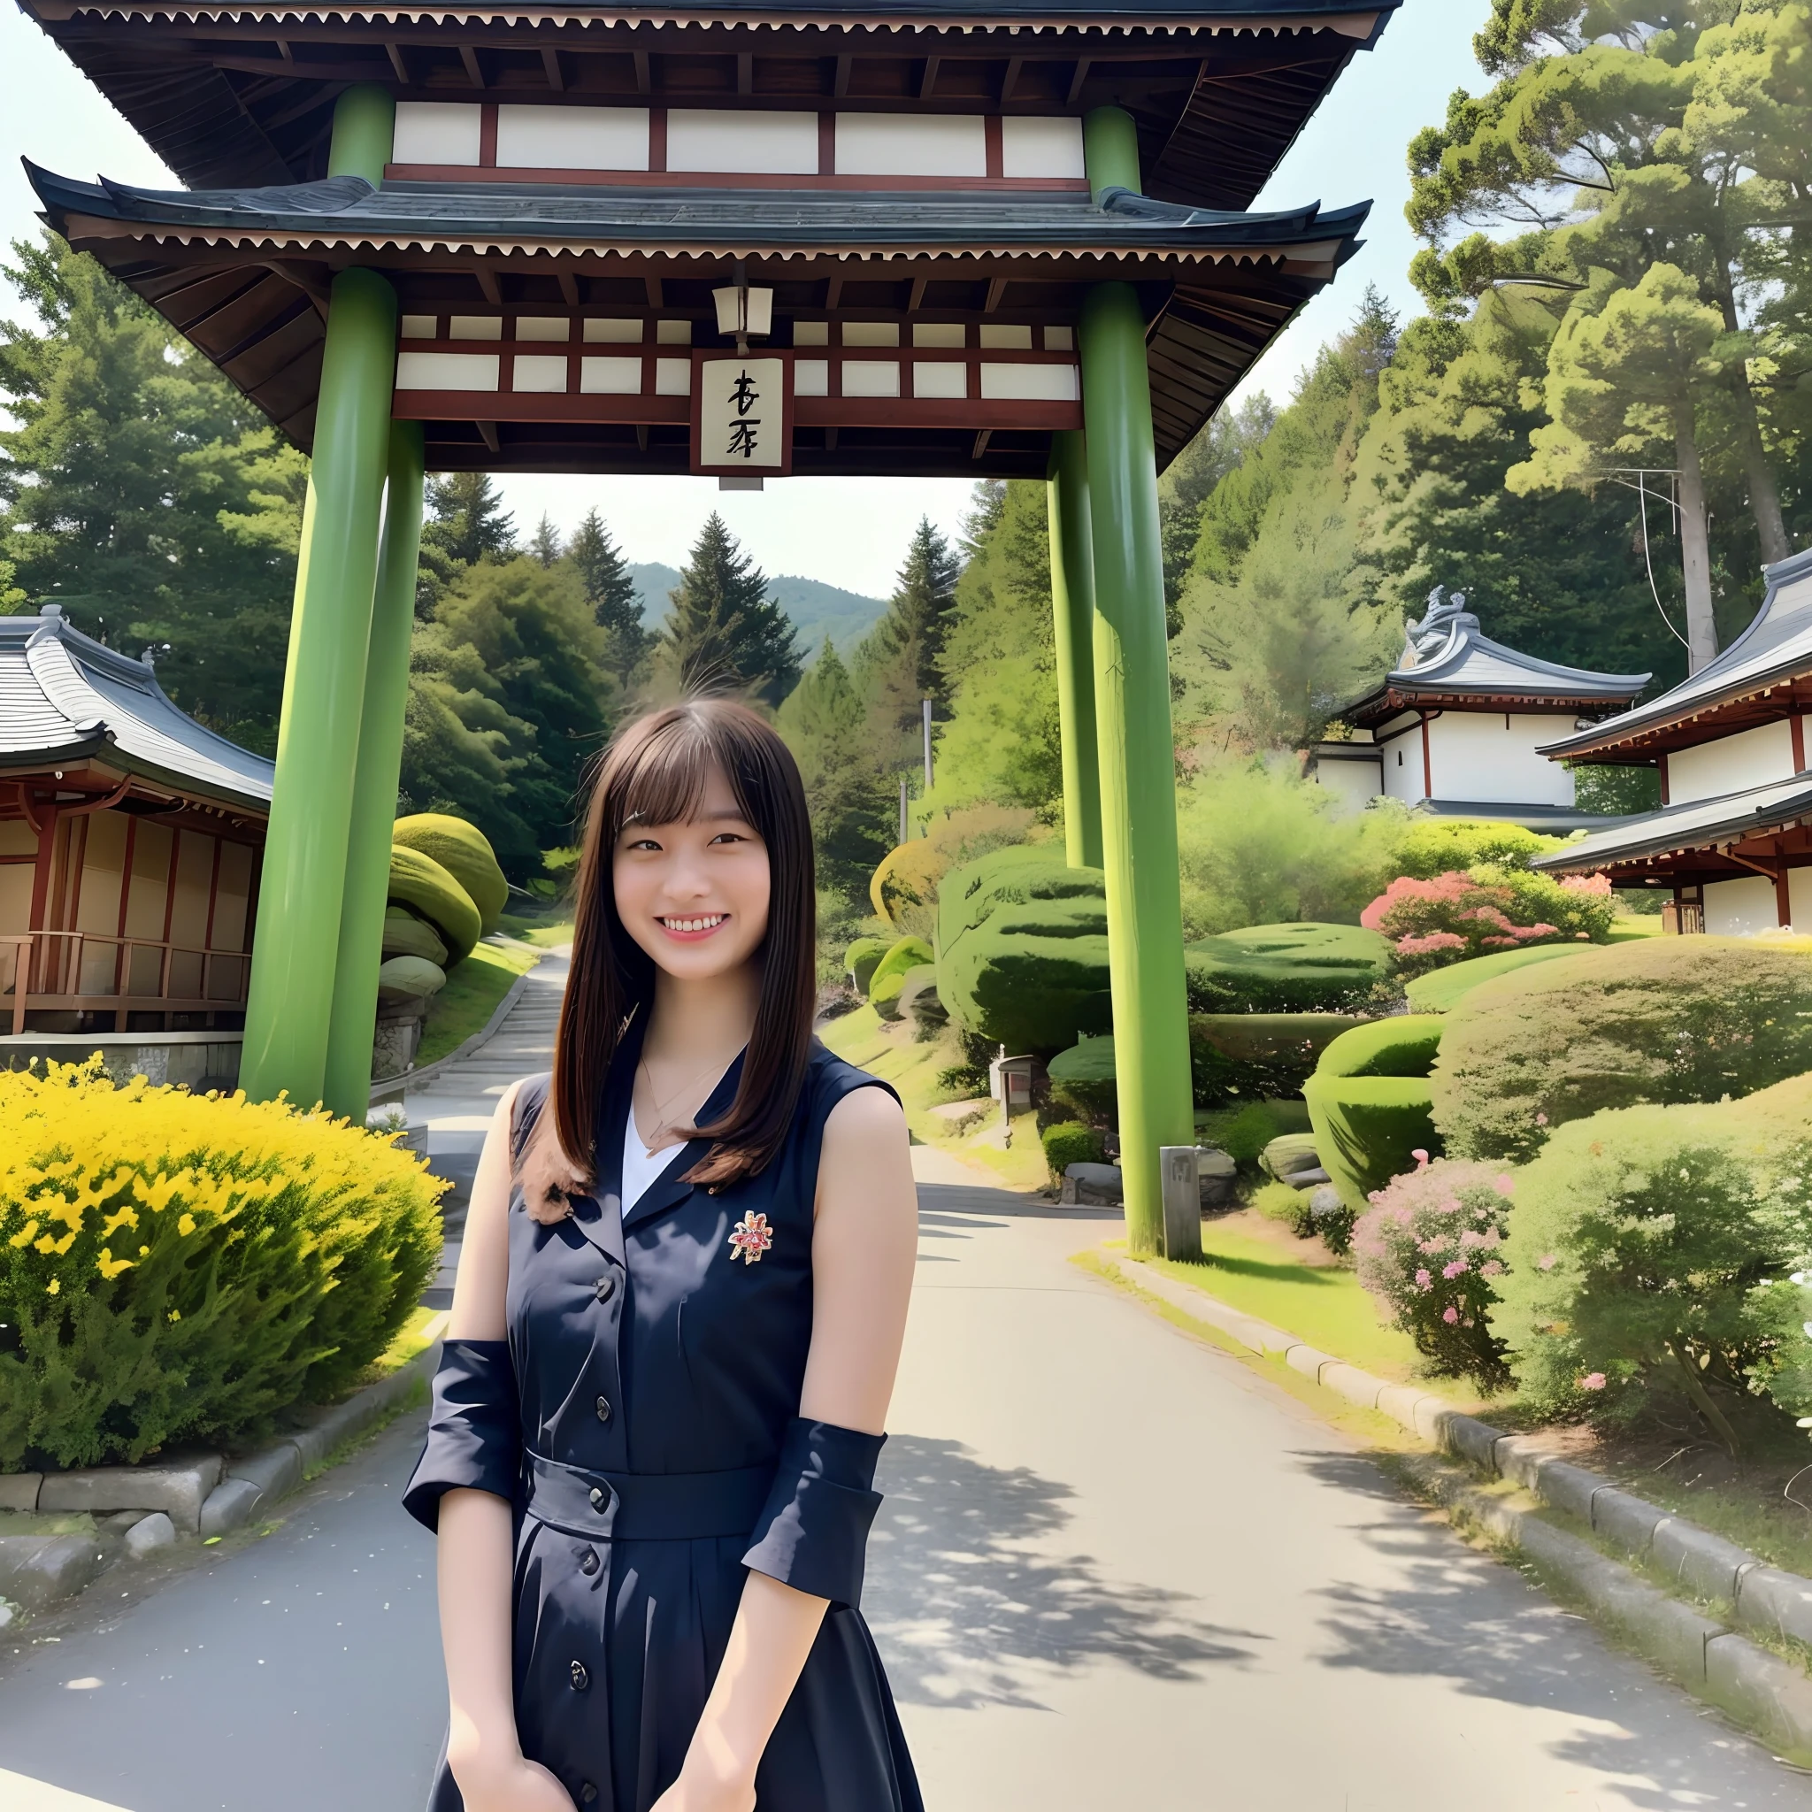
<instances>
[{"instance_id":1,"label":"thick front green pillar on the gate's right side","mask_svg":"<svg viewBox=\"0 0 1812 1812\"><path fill-rule=\"evenodd\" d=\"M1089 187L1138 188L1138 138L1120 109L1082 123ZM1194 1143L1189 1002L1176 861L1176 754L1145 315L1127 283L1082 303L1082 415L1094 536L1094 721L1114 998L1127 1243L1158 1250L1161 1145Z\"/></svg>"}]
</instances>

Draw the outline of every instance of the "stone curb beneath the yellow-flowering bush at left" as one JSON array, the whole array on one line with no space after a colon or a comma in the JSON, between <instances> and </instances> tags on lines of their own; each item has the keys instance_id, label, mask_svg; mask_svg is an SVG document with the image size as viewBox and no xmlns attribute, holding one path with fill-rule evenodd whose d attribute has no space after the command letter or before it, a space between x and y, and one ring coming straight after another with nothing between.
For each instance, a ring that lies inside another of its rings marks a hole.
<instances>
[{"instance_id":1,"label":"stone curb beneath the yellow-flowering bush at left","mask_svg":"<svg viewBox=\"0 0 1812 1812\"><path fill-rule=\"evenodd\" d=\"M167 1528L203 1540L243 1528L259 1511L295 1491L312 1470L428 1383L440 1363L433 1341L390 1377L335 1404L310 1428L245 1459L203 1453L170 1466L94 1466L69 1473L11 1473L0 1479L0 1508L24 1511L147 1511ZM29 1502L27 1502L29 1497ZM161 1515L159 1515L161 1513ZM136 1526L134 1526L136 1528ZM111 1531L118 1535L118 1531ZM130 1553L165 1542L136 1546ZM107 1562L107 1538L91 1535L0 1535L0 1598L31 1611L71 1598Z\"/></svg>"}]
</instances>

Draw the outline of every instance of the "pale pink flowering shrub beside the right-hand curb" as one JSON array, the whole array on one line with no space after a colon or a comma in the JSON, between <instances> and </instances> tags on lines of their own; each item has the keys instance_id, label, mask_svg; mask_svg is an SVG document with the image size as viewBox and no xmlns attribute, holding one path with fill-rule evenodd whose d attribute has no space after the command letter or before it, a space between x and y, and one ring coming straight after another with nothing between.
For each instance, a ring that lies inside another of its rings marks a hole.
<instances>
[{"instance_id":1,"label":"pale pink flowering shrub beside the right-hand curb","mask_svg":"<svg viewBox=\"0 0 1812 1812\"><path fill-rule=\"evenodd\" d=\"M1489 1163L1415 1156L1417 1167L1375 1190L1359 1216L1359 1281L1437 1370L1500 1390L1509 1366L1489 1317L1506 1272L1511 1178Z\"/></svg>"}]
</instances>

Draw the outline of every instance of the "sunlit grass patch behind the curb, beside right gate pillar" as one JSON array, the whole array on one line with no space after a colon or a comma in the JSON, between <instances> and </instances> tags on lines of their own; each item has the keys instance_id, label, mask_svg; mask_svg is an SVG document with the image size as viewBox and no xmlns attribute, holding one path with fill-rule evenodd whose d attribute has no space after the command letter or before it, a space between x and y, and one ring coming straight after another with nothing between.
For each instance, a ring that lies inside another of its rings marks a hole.
<instances>
[{"instance_id":1,"label":"sunlit grass patch behind the curb, beside right gate pillar","mask_svg":"<svg viewBox=\"0 0 1812 1812\"><path fill-rule=\"evenodd\" d=\"M1415 1343L1379 1323L1372 1297L1350 1270L1299 1263L1279 1254L1277 1247L1216 1221L1201 1223L1200 1265L1161 1258L1147 1263L1229 1308L1299 1335L1361 1372L1392 1384L1417 1384L1466 1408L1479 1406L1480 1399L1468 1383L1426 1375L1428 1361L1415 1350Z\"/></svg>"}]
</instances>

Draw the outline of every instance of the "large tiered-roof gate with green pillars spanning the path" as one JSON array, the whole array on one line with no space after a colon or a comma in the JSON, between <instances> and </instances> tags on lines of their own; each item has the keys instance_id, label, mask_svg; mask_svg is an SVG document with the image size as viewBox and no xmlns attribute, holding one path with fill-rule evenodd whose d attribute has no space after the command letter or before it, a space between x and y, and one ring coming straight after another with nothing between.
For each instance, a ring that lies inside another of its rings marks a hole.
<instances>
[{"instance_id":1,"label":"large tiered-roof gate with green pillars spanning the path","mask_svg":"<svg viewBox=\"0 0 1812 1812\"><path fill-rule=\"evenodd\" d=\"M1044 478L1132 1239L1194 1142L1156 473L1352 254L1247 212L1399 0L22 0L188 183L33 170L312 451L241 1076L362 1113L424 469Z\"/></svg>"}]
</instances>

